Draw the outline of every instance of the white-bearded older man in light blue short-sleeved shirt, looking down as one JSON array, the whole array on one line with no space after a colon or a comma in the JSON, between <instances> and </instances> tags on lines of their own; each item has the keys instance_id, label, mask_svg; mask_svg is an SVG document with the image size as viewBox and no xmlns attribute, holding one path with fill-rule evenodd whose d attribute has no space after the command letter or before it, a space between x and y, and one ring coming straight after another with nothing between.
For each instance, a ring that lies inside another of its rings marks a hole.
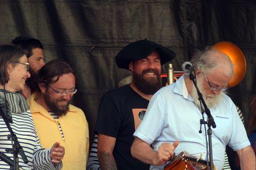
<instances>
[{"instance_id":1,"label":"white-bearded older man in light blue short-sleeved shirt, looking down","mask_svg":"<svg viewBox=\"0 0 256 170\"><path fill-rule=\"evenodd\" d=\"M255 155L236 106L225 94L233 76L231 60L216 50L196 53L191 63L197 85L215 119L212 129L213 161L217 169L224 166L224 152L229 145L239 155L242 169L255 169ZM204 108L203 108L204 110ZM201 106L193 81L188 75L156 92L148 104L143 122L134 136L132 156L151 164L150 169L164 169L174 152L187 151L206 160L205 131L199 133ZM153 149L150 147L153 147Z\"/></svg>"}]
</instances>

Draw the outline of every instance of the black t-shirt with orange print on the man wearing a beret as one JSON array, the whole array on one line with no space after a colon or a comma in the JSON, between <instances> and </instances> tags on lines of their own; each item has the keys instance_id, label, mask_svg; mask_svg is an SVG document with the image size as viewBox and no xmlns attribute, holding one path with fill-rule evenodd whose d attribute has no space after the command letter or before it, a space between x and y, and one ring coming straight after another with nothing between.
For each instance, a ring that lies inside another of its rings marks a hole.
<instances>
[{"instance_id":1,"label":"black t-shirt with orange print on the man wearing a beret","mask_svg":"<svg viewBox=\"0 0 256 170\"><path fill-rule=\"evenodd\" d=\"M139 126L148 100L136 93L130 85L106 92L98 110L95 133L116 138L113 156L118 169L149 169L131 155L133 133Z\"/></svg>"}]
</instances>

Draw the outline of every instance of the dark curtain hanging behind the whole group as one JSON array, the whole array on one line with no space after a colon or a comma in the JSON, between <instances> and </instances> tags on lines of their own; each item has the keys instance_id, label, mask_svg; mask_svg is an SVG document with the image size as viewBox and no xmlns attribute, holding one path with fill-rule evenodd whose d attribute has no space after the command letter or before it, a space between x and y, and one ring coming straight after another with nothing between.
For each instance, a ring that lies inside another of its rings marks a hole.
<instances>
[{"instance_id":1,"label":"dark curtain hanging behind the whole group","mask_svg":"<svg viewBox=\"0 0 256 170\"><path fill-rule=\"evenodd\" d=\"M73 104L86 114L93 140L102 94L130 75L114 57L128 43L147 38L176 52L181 70L195 49L230 41L247 60L243 81L229 90L246 123L255 94L255 1L0 1L0 43L32 36L44 44L46 61L60 58L76 71ZM166 71L167 65L163 66Z\"/></svg>"}]
</instances>

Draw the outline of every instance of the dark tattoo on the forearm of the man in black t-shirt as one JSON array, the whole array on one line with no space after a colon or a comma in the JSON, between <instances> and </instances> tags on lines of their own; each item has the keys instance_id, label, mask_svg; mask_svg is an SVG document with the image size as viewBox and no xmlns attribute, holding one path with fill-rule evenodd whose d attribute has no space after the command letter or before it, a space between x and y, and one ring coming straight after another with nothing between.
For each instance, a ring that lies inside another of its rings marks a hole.
<instances>
[{"instance_id":1,"label":"dark tattoo on the forearm of the man in black t-shirt","mask_svg":"<svg viewBox=\"0 0 256 170\"><path fill-rule=\"evenodd\" d=\"M115 159L105 151L99 153L99 165L102 170L117 170Z\"/></svg>"}]
</instances>

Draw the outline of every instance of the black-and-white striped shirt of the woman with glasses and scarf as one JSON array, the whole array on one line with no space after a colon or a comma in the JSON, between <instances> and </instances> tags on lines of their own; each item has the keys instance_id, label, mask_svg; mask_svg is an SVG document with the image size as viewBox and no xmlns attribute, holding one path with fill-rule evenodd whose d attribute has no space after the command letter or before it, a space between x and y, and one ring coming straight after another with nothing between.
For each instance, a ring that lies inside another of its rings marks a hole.
<instances>
[{"instance_id":1,"label":"black-and-white striped shirt of the woman with glasses and scarf","mask_svg":"<svg viewBox=\"0 0 256 170\"><path fill-rule=\"evenodd\" d=\"M18 154L19 166L24 169L61 169L62 162L53 164L50 157L51 149L42 149L37 136L30 110L24 113L12 113L13 123L10 124L16 134L20 145L23 147L29 163L25 164ZM0 116L0 152L13 160L13 154L6 152L12 148L11 140L7 138L10 132ZM0 160L0 169L10 169L10 166Z\"/></svg>"}]
</instances>

